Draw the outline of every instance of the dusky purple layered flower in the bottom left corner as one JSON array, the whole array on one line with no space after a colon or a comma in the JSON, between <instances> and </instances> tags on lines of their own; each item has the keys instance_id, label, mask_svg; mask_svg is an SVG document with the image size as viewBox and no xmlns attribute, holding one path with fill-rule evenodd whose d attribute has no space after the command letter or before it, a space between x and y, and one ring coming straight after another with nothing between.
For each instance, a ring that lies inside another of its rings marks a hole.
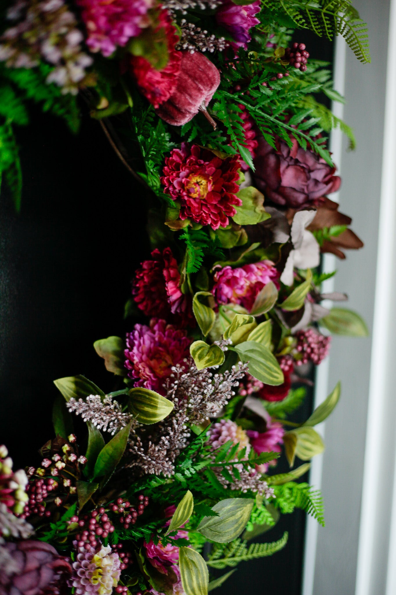
<instances>
[{"instance_id":1,"label":"dusky purple layered flower in the bottom left corner","mask_svg":"<svg viewBox=\"0 0 396 595\"><path fill-rule=\"evenodd\" d=\"M12 571L0 568L1 595L65 593L65 579L71 574L71 566L49 543L24 540L2 547L12 559Z\"/></svg>"}]
</instances>

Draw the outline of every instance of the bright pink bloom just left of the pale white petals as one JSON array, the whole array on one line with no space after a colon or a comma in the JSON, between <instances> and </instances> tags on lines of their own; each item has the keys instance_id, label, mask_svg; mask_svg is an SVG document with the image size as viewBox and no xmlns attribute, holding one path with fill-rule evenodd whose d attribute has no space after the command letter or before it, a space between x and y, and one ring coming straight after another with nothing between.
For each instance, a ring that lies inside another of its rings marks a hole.
<instances>
[{"instance_id":1,"label":"bright pink bloom just left of the pale white petals","mask_svg":"<svg viewBox=\"0 0 396 595\"><path fill-rule=\"evenodd\" d=\"M212 293L219 304L237 303L251 311L254 300L267 283L273 281L279 287L278 278L274 263L267 260L237 268L224 267L214 275Z\"/></svg>"}]
</instances>

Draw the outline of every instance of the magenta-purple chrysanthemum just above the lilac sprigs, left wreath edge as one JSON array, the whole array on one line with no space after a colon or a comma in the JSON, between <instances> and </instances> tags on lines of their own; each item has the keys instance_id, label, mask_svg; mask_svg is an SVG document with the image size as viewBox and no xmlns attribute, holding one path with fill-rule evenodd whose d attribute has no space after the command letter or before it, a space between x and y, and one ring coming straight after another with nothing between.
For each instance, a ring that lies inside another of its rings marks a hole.
<instances>
[{"instance_id":1,"label":"magenta-purple chrysanthemum just above the lilac sprigs, left wreath edge","mask_svg":"<svg viewBox=\"0 0 396 595\"><path fill-rule=\"evenodd\" d=\"M126 335L125 367L129 378L137 378L135 386L164 394L163 384L176 364L188 367L191 339L164 320L152 318L150 327L135 324Z\"/></svg>"}]
</instances>

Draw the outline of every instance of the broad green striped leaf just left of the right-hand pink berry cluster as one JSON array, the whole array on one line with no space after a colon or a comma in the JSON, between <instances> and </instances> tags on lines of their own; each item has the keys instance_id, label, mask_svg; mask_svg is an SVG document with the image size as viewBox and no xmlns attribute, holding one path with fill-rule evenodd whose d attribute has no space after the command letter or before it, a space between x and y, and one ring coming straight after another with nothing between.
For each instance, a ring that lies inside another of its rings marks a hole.
<instances>
[{"instance_id":1,"label":"broad green striped leaf just left of the right-hand pink berry cluster","mask_svg":"<svg viewBox=\"0 0 396 595\"><path fill-rule=\"evenodd\" d=\"M265 384L277 386L284 381L283 372L270 349L255 341L245 341L233 347L242 362L249 362L249 374Z\"/></svg>"}]
</instances>

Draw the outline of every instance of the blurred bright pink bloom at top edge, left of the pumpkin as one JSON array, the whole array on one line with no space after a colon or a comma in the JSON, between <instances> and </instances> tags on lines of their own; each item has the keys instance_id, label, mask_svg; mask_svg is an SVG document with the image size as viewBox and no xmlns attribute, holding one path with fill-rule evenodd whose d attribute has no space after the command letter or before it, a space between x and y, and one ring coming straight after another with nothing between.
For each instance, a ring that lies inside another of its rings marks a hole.
<instances>
[{"instance_id":1,"label":"blurred bright pink bloom at top edge, left of the pumpkin","mask_svg":"<svg viewBox=\"0 0 396 595\"><path fill-rule=\"evenodd\" d=\"M77 0L81 18L87 27L86 40L91 52L110 56L117 46L125 46L131 37L150 24L147 11L151 0Z\"/></svg>"}]
</instances>

